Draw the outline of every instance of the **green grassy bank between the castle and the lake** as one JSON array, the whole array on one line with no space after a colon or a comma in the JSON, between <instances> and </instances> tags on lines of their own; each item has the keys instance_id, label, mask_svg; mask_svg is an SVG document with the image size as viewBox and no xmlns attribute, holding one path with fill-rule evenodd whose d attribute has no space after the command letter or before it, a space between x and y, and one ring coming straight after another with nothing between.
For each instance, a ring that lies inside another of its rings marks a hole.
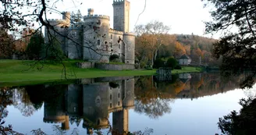
<instances>
[{"instance_id":1,"label":"green grassy bank between the castle and the lake","mask_svg":"<svg viewBox=\"0 0 256 135\"><path fill-rule=\"evenodd\" d=\"M75 66L76 61L63 62L63 64L52 62L0 60L0 85L4 83L43 83L65 79L95 78L103 76L150 76L156 73L152 70L125 70L105 71L100 69L80 69ZM195 67L183 67L173 70L172 73L200 72Z\"/></svg>"}]
</instances>

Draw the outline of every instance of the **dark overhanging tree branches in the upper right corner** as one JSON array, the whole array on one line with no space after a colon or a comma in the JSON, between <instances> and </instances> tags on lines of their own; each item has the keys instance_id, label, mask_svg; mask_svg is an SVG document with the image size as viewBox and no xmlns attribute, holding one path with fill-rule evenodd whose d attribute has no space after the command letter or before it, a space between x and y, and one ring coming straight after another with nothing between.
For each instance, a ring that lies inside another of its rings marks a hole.
<instances>
[{"instance_id":1,"label":"dark overhanging tree branches in the upper right corner","mask_svg":"<svg viewBox=\"0 0 256 135\"><path fill-rule=\"evenodd\" d=\"M206 5L214 5L211 12L213 21L207 22L206 32L222 30L225 33L214 44L214 56L222 56L222 71L240 73L245 69L256 70L256 2L254 0L202 0ZM232 30L230 30L234 27ZM252 77L251 77L252 78ZM250 82L250 81L249 81ZM248 83L250 84L250 83ZM249 85L245 85L247 87Z\"/></svg>"}]
</instances>

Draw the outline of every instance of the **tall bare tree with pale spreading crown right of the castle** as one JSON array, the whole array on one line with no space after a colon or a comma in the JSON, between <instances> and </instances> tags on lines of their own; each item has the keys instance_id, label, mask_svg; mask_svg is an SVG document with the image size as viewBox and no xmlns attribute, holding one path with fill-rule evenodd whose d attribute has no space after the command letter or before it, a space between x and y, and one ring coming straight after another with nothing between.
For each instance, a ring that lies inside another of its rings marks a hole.
<instances>
[{"instance_id":1,"label":"tall bare tree with pale spreading crown right of the castle","mask_svg":"<svg viewBox=\"0 0 256 135\"><path fill-rule=\"evenodd\" d=\"M162 39L165 34L167 34L170 30L170 27L165 26L164 23L159 21L151 21L146 25L139 25L135 27L135 33L137 36L141 36L143 34L148 35L150 40L148 41L148 47L151 51L151 66L156 59L158 48L162 45Z\"/></svg>"}]
</instances>

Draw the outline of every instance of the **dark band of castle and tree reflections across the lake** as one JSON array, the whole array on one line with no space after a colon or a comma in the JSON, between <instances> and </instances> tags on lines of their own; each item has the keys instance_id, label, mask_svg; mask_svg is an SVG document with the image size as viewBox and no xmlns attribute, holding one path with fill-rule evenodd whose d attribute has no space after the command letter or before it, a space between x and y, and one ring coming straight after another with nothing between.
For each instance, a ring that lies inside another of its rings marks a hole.
<instances>
[{"instance_id":1,"label":"dark band of castle and tree reflections across the lake","mask_svg":"<svg viewBox=\"0 0 256 135\"><path fill-rule=\"evenodd\" d=\"M177 98L193 100L225 93L238 88L240 79L243 76L226 80L218 73L183 73L165 81L157 76L130 76L83 79L72 84L1 87L0 115L8 116L8 105L26 117L44 108L42 121L62 123L62 130L75 124L87 129L87 134L101 129L112 134L128 133L129 119L133 119L131 108L150 119L159 119L172 112L170 103Z\"/></svg>"}]
</instances>

